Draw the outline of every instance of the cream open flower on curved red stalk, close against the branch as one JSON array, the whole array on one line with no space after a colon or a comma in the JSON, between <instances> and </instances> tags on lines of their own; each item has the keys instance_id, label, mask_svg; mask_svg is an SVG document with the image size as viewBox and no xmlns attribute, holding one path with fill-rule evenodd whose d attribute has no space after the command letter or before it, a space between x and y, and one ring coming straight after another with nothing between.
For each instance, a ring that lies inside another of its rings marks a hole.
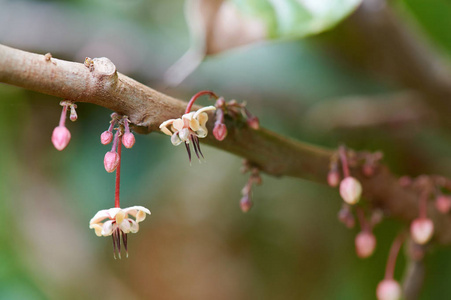
<instances>
[{"instance_id":1,"label":"cream open flower on curved red stalk, close against the branch","mask_svg":"<svg viewBox=\"0 0 451 300\"><path fill-rule=\"evenodd\" d=\"M189 144L193 144L194 151L199 157L203 157L200 150L199 138L204 138L208 134L206 123L208 121L207 111L216 110L214 106L207 106L196 112L184 114L181 118L167 120L160 125L160 130L171 136L171 142L174 146L185 143L188 157L191 161L191 150Z\"/></svg>"}]
</instances>

